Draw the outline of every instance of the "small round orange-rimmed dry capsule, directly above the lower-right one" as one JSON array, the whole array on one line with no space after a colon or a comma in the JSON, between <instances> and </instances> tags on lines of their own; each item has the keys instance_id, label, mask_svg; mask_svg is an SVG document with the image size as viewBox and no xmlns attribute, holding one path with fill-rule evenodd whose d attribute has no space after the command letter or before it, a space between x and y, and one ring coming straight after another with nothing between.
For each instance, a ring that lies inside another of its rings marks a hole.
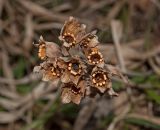
<instances>
[{"instance_id":1,"label":"small round orange-rimmed dry capsule, directly above the lower-right one","mask_svg":"<svg viewBox=\"0 0 160 130\"><path fill-rule=\"evenodd\" d=\"M99 67L104 66L103 55L97 48L90 48L89 50L85 51L85 55L89 64L97 65Z\"/></svg>"}]
</instances>

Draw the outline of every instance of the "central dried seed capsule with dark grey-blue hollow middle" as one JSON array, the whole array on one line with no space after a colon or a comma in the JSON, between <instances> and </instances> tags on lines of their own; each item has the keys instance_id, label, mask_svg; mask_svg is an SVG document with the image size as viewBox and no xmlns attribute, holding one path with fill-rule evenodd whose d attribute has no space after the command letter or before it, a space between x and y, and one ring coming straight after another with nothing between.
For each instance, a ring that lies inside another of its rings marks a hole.
<instances>
[{"instance_id":1,"label":"central dried seed capsule with dark grey-blue hollow middle","mask_svg":"<svg viewBox=\"0 0 160 130\"><path fill-rule=\"evenodd\" d=\"M58 62L58 65L65 69L63 75L61 76L61 81L63 83L72 81L77 84L84 73L85 66L83 62L78 57L62 57Z\"/></svg>"}]
</instances>

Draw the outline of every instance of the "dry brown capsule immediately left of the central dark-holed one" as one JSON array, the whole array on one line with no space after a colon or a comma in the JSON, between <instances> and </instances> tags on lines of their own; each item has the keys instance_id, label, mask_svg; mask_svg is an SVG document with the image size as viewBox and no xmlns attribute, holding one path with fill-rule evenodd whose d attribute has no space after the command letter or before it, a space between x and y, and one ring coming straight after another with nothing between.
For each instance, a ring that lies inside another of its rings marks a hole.
<instances>
[{"instance_id":1,"label":"dry brown capsule immediately left of the central dark-holed one","mask_svg":"<svg viewBox=\"0 0 160 130\"><path fill-rule=\"evenodd\" d=\"M46 61L41 63L40 66L35 66L33 71L41 73L43 81L55 80L62 75L61 69L58 66L54 66L54 64Z\"/></svg>"}]
</instances>

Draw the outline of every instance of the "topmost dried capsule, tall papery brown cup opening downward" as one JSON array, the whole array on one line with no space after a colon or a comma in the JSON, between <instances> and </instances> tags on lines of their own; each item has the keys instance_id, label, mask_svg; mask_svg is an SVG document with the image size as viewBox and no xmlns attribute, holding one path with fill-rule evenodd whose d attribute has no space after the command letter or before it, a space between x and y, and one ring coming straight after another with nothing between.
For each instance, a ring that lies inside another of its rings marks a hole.
<instances>
[{"instance_id":1,"label":"topmost dried capsule, tall papery brown cup opening downward","mask_svg":"<svg viewBox=\"0 0 160 130\"><path fill-rule=\"evenodd\" d=\"M85 29L84 24L80 24L74 17L69 17L61 29L59 39L64 42L63 45L67 48L75 46L85 35Z\"/></svg>"}]
</instances>

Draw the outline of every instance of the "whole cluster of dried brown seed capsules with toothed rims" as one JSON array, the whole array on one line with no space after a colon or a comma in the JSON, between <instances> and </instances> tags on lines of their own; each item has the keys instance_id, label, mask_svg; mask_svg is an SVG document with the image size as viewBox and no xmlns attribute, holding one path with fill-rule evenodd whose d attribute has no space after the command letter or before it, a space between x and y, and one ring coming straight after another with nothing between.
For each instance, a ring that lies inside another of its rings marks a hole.
<instances>
[{"instance_id":1,"label":"whole cluster of dried brown seed capsules with toothed rims","mask_svg":"<svg viewBox=\"0 0 160 130\"><path fill-rule=\"evenodd\" d=\"M98 49L96 31L87 33L86 25L76 18L69 17L61 29L61 45L48 42L41 36L38 44L38 57L42 60L34 72L42 74L43 81L59 80L63 103L79 104L85 96L108 93L118 94L112 89L111 77L124 79L118 69L106 64Z\"/></svg>"}]
</instances>

